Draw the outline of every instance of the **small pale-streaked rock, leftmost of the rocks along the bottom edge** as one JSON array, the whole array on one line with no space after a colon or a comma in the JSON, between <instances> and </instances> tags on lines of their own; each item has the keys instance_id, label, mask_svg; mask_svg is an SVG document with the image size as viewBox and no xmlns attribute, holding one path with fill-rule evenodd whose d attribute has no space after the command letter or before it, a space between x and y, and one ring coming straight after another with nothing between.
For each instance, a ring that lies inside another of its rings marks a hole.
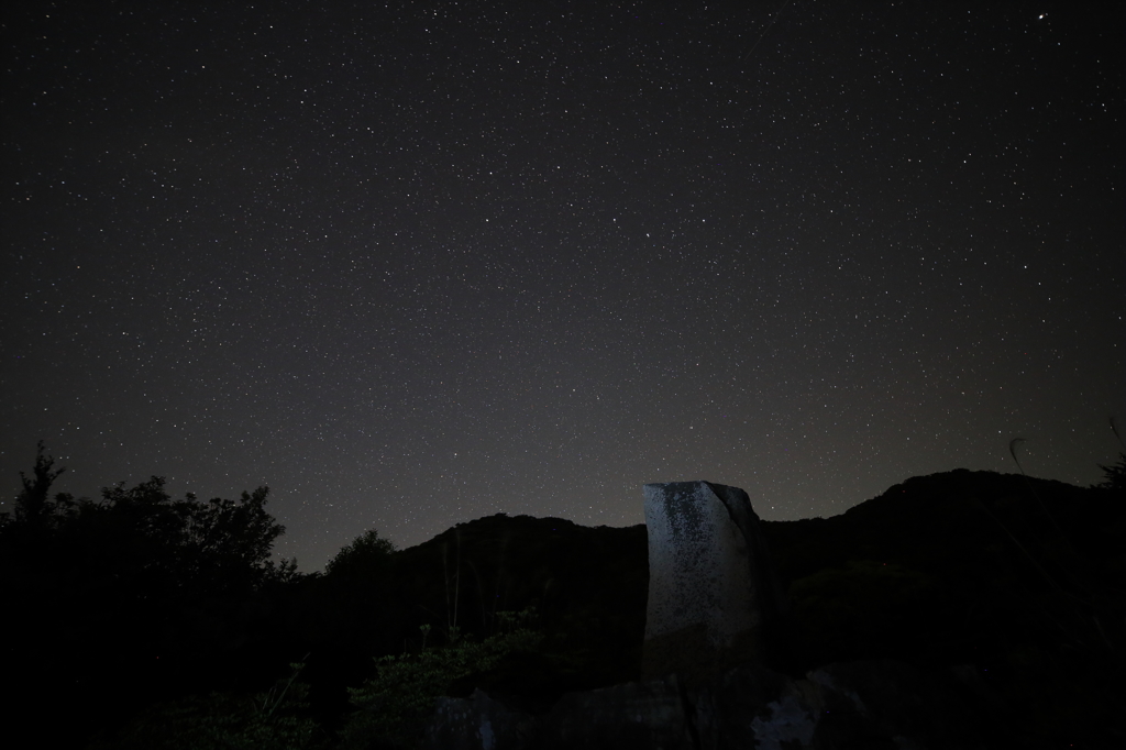
<instances>
[{"instance_id":1,"label":"small pale-streaked rock, leftmost of the rocks along the bottom edge","mask_svg":"<svg viewBox=\"0 0 1126 750\"><path fill-rule=\"evenodd\" d=\"M438 698L427 724L426 750L528 750L539 722L480 689L468 698Z\"/></svg>"}]
</instances>

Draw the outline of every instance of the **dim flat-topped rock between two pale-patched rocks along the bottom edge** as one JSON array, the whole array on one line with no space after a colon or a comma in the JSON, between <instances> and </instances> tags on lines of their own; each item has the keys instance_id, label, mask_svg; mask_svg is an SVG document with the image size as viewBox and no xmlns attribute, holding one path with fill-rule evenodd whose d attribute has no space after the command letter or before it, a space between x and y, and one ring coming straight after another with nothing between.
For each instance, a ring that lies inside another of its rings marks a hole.
<instances>
[{"instance_id":1,"label":"dim flat-topped rock between two pale-patched rocks along the bottom edge","mask_svg":"<svg viewBox=\"0 0 1126 750\"><path fill-rule=\"evenodd\" d=\"M692 750L689 715L674 675L569 693L551 709L536 744L547 750Z\"/></svg>"}]
</instances>

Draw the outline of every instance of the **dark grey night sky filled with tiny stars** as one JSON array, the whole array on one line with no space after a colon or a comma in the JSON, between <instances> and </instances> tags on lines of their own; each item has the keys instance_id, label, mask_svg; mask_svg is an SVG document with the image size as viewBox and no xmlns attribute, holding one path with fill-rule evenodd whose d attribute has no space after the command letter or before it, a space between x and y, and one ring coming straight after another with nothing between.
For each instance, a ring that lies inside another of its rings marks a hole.
<instances>
[{"instance_id":1,"label":"dark grey night sky filled with tiny stars","mask_svg":"<svg viewBox=\"0 0 1126 750\"><path fill-rule=\"evenodd\" d=\"M0 490L260 484L306 571L642 484L1097 482L1121 3L5 11ZM1119 430L1124 431L1124 430Z\"/></svg>"}]
</instances>

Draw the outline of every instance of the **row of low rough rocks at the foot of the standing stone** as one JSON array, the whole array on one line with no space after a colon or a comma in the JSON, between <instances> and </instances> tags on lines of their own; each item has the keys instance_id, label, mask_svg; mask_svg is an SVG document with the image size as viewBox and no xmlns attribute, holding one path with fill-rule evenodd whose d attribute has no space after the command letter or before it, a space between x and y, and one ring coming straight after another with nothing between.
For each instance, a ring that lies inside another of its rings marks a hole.
<instances>
[{"instance_id":1,"label":"row of low rough rocks at the foot of the standing stone","mask_svg":"<svg viewBox=\"0 0 1126 750\"><path fill-rule=\"evenodd\" d=\"M975 750L972 709L941 676L888 660L793 679L743 663L696 690L676 675L570 693L546 715L475 690L441 698L428 750Z\"/></svg>"}]
</instances>

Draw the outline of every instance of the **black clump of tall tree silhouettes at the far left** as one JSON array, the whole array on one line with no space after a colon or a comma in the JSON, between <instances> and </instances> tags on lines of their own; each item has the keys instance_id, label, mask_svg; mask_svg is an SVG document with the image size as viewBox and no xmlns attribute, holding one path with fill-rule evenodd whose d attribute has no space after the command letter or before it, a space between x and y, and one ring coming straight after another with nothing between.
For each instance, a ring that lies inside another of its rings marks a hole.
<instances>
[{"instance_id":1,"label":"black clump of tall tree silhouettes at the far left","mask_svg":"<svg viewBox=\"0 0 1126 750\"><path fill-rule=\"evenodd\" d=\"M295 575L295 562L269 560L285 528L266 509L268 488L204 502L173 499L152 476L97 500L52 497L63 471L39 443L15 512L0 518L10 613L0 643L14 691L0 702L46 732L43 744L81 747L91 727L153 700L256 689L261 675L248 672L263 670L271 637L267 584ZM53 722L37 697L48 694L74 716Z\"/></svg>"}]
</instances>

